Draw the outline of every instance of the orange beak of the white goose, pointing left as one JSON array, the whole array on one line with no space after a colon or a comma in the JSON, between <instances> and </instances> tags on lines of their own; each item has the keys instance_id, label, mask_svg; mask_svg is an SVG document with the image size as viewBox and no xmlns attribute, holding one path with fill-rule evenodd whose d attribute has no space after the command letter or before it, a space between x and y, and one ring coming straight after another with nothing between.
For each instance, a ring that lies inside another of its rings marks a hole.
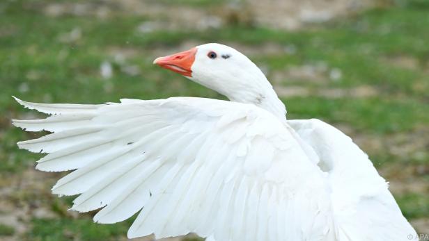
<instances>
[{"instance_id":1,"label":"orange beak of the white goose, pointing left","mask_svg":"<svg viewBox=\"0 0 429 241\"><path fill-rule=\"evenodd\" d=\"M192 77L191 67L194 64L196 48L189 49L171 56L159 57L153 61L154 64L170 69L184 76Z\"/></svg>"}]
</instances>

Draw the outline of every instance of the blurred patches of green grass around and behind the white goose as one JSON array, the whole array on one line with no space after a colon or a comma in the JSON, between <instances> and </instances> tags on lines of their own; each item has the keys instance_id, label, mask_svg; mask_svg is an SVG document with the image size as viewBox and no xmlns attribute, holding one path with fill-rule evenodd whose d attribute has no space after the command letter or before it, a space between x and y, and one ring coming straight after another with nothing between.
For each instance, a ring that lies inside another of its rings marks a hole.
<instances>
[{"instance_id":1,"label":"blurred patches of green grass around and behind the white goose","mask_svg":"<svg viewBox=\"0 0 429 241\"><path fill-rule=\"evenodd\" d=\"M238 49L240 46L260 49L253 59L269 69L269 77L291 66L320 62L329 69L341 69L337 81L327 78L314 83L285 76L282 83L285 88L293 85L354 90L368 85L377 91L368 98L283 97L290 119L317 117L334 125L352 126L356 133L377 138L412 133L429 123L429 5L424 0L396 1L395 6L293 32L232 24L207 31L159 29L150 33L137 31L141 23L153 21L145 16L115 12L104 19L86 15L51 17L42 11L47 2L58 3L42 0L0 3L0 173L6 178L22 174L40 158L16 147L17 140L40 134L24 133L10 126L10 119L37 115L29 114L11 95L29 101L70 103L102 103L123 97L223 98L153 67L154 49L176 47L189 41L228 42ZM212 3L183 0L180 4L208 8ZM79 33L79 38L71 38L73 32ZM266 54L264 43L280 49L293 46L296 51ZM118 59L117 53L124 53L124 60ZM413 60L412 66L398 64L402 59ZM104 61L113 67L114 75L109 79L100 76ZM140 73L127 72L130 66ZM369 154L375 163L380 163L377 165L380 168L391 163L427 166L429 153L422 151L426 157L418 161L384 150ZM426 180L423 175L416 174L416 180ZM408 218L429 217L428 192L400 194L397 198ZM64 217L59 211L64 207L57 204L49 203L49 207L59 213L59 218L31 219L32 228L23 238L116 240L130 224L93 224L90 215L79 215L78 219ZM13 232L13 228L0 226L1 235Z\"/></svg>"}]
</instances>

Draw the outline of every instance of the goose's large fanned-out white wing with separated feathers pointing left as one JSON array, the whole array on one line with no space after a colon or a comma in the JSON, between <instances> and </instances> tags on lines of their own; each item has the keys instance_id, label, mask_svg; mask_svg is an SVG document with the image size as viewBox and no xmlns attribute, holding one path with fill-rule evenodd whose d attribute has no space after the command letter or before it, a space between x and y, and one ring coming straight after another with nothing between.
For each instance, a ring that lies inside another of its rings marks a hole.
<instances>
[{"instance_id":1,"label":"goose's large fanned-out white wing with separated feathers pointing left","mask_svg":"<svg viewBox=\"0 0 429 241\"><path fill-rule=\"evenodd\" d=\"M326 240L331 203L320 169L272 114L201 98L103 105L22 105L54 114L14 120L53 132L18 142L48 153L37 169L74 170L52 192L95 222L139 213L128 236L195 232L216 240Z\"/></svg>"}]
</instances>

